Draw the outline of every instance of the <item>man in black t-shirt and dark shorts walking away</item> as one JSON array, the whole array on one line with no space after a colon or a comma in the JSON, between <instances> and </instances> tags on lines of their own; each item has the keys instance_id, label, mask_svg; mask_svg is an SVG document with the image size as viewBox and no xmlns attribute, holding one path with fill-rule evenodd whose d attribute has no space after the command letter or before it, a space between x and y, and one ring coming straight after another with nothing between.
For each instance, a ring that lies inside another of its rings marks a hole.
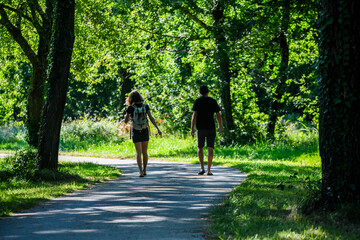
<instances>
[{"instance_id":1,"label":"man in black t-shirt and dark shorts walking away","mask_svg":"<svg viewBox=\"0 0 360 240\"><path fill-rule=\"evenodd\" d=\"M195 134L196 125L198 156L201 165L199 175L203 175L205 173L203 152L205 139L208 148L207 175L213 175L210 171L210 168L214 157L214 142L216 136L214 113L216 113L216 120L218 122L218 132L221 133L222 120L220 115L220 107L215 99L208 96L209 89L207 86L200 87L200 94L201 97L195 100L193 106L194 113L191 118L191 136L194 136Z\"/></svg>"}]
</instances>

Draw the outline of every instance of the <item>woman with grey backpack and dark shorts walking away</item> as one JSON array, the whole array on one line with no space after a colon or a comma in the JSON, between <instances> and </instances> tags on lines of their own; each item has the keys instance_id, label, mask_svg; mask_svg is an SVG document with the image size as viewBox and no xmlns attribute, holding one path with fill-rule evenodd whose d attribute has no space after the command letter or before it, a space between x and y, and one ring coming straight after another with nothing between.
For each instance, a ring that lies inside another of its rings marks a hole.
<instances>
[{"instance_id":1,"label":"woman with grey backpack and dark shorts walking away","mask_svg":"<svg viewBox=\"0 0 360 240\"><path fill-rule=\"evenodd\" d=\"M126 99L125 123L128 123L131 119L131 136L135 144L136 149L136 161L139 167L140 176L146 176L146 167L148 163L147 148L149 144L149 123L147 116L151 123L156 127L158 134L162 133L157 126L154 117L151 115L149 105L144 103L144 99L140 93L136 90L129 94ZM142 157L142 159L141 159Z\"/></svg>"}]
</instances>

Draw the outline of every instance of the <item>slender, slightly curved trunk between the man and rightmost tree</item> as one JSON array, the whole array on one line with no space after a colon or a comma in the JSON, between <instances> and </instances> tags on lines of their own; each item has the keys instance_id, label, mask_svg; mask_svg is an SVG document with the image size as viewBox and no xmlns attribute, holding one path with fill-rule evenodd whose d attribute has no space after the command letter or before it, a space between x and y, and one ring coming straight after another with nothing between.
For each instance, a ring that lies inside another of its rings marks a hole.
<instances>
[{"instance_id":1,"label":"slender, slightly curved trunk between the man and rightmost tree","mask_svg":"<svg viewBox=\"0 0 360 240\"><path fill-rule=\"evenodd\" d=\"M279 68L278 85L275 88L275 95L270 106L269 123L267 133L270 139L274 139L276 121L281 109L281 98L284 95L284 85L287 80L287 69L289 66L289 45L287 43L287 30L290 21L290 0L284 0L282 6L281 29L279 35L279 46L281 63Z\"/></svg>"}]
</instances>

